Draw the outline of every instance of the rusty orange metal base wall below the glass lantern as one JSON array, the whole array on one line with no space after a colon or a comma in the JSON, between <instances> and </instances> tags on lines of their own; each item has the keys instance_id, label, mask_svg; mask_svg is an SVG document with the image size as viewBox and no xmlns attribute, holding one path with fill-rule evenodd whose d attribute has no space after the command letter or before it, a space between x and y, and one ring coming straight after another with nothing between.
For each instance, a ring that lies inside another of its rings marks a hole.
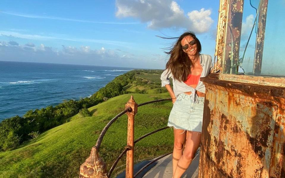
<instances>
[{"instance_id":1,"label":"rusty orange metal base wall below the glass lantern","mask_svg":"<svg viewBox=\"0 0 285 178\"><path fill-rule=\"evenodd\" d=\"M284 177L285 88L213 74L201 80L206 97L199 177Z\"/></svg>"}]
</instances>

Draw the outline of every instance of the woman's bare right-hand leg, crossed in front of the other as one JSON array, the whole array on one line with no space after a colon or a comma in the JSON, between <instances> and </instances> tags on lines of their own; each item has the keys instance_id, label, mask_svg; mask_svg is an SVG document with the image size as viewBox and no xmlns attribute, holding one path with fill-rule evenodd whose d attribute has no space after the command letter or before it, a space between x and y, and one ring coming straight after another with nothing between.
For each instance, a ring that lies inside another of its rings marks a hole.
<instances>
[{"instance_id":1,"label":"woman's bare right-hand leg, crossed in front of the other","mask_svg":"<svg viewBox=\"0 0 285 178\"><path fill-rule=\"evenodd\" d=\"M180 178L191 164L200 145L201 135L202 134L199 132L187 131L187 140L185 143L184 152L177 163L173 178Z\"/></svg>"}]
</instances>

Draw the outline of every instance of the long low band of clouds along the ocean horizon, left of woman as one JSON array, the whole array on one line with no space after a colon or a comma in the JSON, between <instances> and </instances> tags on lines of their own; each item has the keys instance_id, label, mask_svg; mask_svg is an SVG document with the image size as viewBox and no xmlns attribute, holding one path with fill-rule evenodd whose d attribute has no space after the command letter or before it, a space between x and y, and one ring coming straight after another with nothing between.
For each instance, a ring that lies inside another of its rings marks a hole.
<instances>
[{"instance_id":1,"label":"long low band of clouds along the ocean horizon, left of woman","mask_svg":"<svg viewBox=\"0 0 285 178\"><path fill-rule=\"evenodd\" d=\"M18 44L18 42L14 41ZM0 41L1 60L21 62L48 62L135 68L164 68L161 55L140 56L121 49L91 49L90 46L64 46L61 49L40 44L12 45Z\"/></svg>"}]
</instances>

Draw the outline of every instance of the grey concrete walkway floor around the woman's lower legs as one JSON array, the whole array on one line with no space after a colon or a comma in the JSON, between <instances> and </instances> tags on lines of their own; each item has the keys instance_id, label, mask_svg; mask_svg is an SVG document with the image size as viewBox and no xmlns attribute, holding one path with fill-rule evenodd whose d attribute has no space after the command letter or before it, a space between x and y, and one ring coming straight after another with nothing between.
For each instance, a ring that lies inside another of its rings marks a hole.
<instances>
[{"instance_id":1,"label":"grey concrete walkway floor around the woman's lower legs","mask_svg":"<svg viewBox=\"0 0 285 178\"><path fill-rule=\"evenodd\" d=\"M200 148L189 168L183 174L183 178L198 178L199 173ZM151 168L143 178L171 178L172 177L172 154L161 158L157 164Z\"/></svg>"}]
</instances>

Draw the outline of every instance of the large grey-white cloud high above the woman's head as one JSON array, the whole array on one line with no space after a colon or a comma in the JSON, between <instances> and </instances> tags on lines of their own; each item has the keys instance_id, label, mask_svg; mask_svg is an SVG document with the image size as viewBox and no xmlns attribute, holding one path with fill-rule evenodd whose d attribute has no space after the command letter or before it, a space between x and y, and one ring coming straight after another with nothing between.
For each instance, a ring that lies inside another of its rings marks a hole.
<instances>
[{"instance_id":1,"label":"large grey-white cloud high above the woman's head","mask_svg":"<svg viewBox=\"0 0 285 178\"><path fill-rule=\"evenodd\" d=\"M116 0L117 17L134 17L148 28L183 28L196 33L205 33L213 23L211 10L204 8L188 12L171 0Z\"/></svg>"}]
</instances>

